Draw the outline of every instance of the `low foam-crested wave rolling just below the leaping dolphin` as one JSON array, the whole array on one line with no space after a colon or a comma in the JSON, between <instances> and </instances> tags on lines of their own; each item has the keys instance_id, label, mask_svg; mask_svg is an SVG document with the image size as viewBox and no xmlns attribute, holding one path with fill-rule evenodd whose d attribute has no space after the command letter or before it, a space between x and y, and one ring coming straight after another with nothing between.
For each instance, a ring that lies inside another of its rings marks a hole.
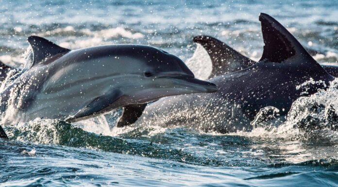
<instances>
[{"instance_id":1,"label":"low foam-crested wave rolling just below the leaping dolphin","mask_svg":"<svg viewBox=\"0 0 338 187\"><path fill-rule=\"evenodd\" d=\"M133 154L142 157L170 159L195 165L221 166L223 163L214 157L193 155L181 147L161 144L161 139L124 139L121 137L102 136L84 131L82 128L64 121L35 119L17 126L7 126L5 130L12 140L38 144L54 144L75 148L86 148L113 153ZM135 129L130 134L148 134L151 129ZM126 134L125 136L128 136ZM158 142L159 141L159 142ZM25 154L34 154L34 151Z\"/></svg>"}]
</instances>

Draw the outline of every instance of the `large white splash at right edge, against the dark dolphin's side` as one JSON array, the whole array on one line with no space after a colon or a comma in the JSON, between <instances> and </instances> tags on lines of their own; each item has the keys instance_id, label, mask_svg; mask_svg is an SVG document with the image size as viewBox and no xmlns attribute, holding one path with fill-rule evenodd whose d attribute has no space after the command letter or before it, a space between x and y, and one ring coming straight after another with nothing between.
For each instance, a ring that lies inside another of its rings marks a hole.
<instances>
[{"instance_id":1,"label":"large white splash at right edge, against the dark dolphin's side","mask_svg":"<svg viewBox=\"0 0 338 187\"><path fill-rule=\"evenodd\" d=\"M334 80L326 90L300 97L293 102L286 119L278 116L278 109L265 107L252 121L254 129L251 132L237 132L234 135L338 145L337 88L338 80Z\"/></svg>"}]
</instances>

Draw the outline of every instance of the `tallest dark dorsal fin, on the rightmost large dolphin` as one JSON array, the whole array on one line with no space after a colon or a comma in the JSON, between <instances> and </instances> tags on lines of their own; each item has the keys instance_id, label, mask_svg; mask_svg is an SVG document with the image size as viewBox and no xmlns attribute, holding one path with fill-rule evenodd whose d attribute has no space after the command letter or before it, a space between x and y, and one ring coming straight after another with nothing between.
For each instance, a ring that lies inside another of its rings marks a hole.
<instances>
[{"instance_id":1,"label":"tallest dark dorsal fin, on the rightmost large dolphin","mask_svg":"<svg viewBox=\"0 0 338 187\"><path fill-rule=\"evenodd\" d=\"M298 40L273 17L261 13L259 21L262 25L264 49L259 61L285 62L289 59L297 59L302 65L305 63L318 64L304 49Z\"/></svg>"}]
</instances>

